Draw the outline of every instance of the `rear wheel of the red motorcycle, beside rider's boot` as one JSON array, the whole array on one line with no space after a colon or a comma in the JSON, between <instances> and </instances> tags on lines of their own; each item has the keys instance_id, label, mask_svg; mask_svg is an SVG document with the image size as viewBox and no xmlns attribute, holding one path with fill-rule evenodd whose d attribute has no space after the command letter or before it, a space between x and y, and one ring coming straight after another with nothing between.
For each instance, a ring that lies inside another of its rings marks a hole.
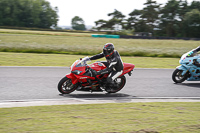
<instances>
[{"instance_id":1,"label":"rear wheel of the red motorcycle, beside rider's boot","mask_svg":"<svg viewBox=\"0 0 200 133\"><path fill-rule=\"evenodd\" d=\"M105 90L107 93L116 93L120 91L126 84L126 77L124 75L121 77L118 77L114 80L114 82L117 84L118 87L114 88L112 91Z\"/></svg>"}]
</instances>

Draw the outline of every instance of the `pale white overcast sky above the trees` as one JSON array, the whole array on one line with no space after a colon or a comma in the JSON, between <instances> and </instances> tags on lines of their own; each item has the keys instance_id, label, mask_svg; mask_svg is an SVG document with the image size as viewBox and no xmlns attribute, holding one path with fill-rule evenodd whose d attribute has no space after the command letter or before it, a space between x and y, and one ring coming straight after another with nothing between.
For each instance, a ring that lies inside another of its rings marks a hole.
<instances>
[{"instance_id":1,"label":"pale white overcast sky above the trees","mask_svg":"<svg viewBox=\"0 0 200 133\"><path fill-rule=\"evenodd\" d=\"M134 9L143 9L147 0L46 0L52 7L58 7L58 26L71 26L74 16L79 16L85 21L85 25L95 26L99 19L108 20L108 13L114 9L128 17ZM165 4L168 0L156 0L159 4ZM194 0L187 0L188 2ZM197 0L198 1L198 0Z\"/></svg>"}]
</instances>

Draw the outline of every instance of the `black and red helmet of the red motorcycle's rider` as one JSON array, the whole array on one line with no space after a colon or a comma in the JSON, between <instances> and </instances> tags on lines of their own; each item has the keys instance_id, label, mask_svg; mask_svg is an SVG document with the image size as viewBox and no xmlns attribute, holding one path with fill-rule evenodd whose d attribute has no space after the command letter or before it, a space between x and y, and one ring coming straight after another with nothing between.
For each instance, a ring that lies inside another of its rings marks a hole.
<instances>
[{"instance_id":1,"label":"black and red helmet of the red motorcycle's rider","mask_svg":"<svg viewBox=\"0 0 200 133\"><path fill-rule=\"evenodd\" d=\"M106 43L103 47L103 54L105 57L111 58L114 53L114 45L112 43Z\"/></svg>"}]
</instances>

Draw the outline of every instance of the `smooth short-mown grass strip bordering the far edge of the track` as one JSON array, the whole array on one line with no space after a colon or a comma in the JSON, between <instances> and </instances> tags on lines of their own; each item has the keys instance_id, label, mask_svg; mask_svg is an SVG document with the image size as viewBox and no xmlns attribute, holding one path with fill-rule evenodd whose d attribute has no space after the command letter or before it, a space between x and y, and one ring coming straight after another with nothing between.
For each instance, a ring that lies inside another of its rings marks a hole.
<instances>
[{"instance_id":1,"label":"smooth short-mown grass strip bordering the far edge of the track","mask_svg":"<svg viewBox=\"0 0 200 133\"><path fill-rule=\"evenodd\" d=\"M0 66L71 66L86 55L34 54L0 52ZM105 60L105 58L99 59ZM176 68L179 58L127 57L126 63L135 64L136 68Z\"/></svg>"}]
</instances>

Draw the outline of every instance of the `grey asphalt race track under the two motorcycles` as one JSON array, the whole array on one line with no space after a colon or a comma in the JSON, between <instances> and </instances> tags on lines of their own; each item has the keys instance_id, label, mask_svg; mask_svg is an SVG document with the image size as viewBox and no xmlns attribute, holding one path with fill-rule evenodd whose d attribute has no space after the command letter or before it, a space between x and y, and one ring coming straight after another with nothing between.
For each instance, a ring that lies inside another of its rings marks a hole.
<instances>
[{"instance_id":1,"label":"grey asphalt race track under the two motorcycles","mask_svg":"<svg viewBox=\"0 0 200 133\"><path fill-rule=\"evenodd\" d=\"M21 103L24 103L24 106L31 106L32 103L34 106L116 101L145 102L163 99L199 101L200 81L175 84L171 79L173 71L174 69L136 68L132 76L126 75L126 85L118 93L74 91L68 95L61 95L57 90L57 84L70 72L69 67L0 67L0 107L9 107L13 103L16 106ZM37 102L38 104L33 104Z\"/></svg>"}]
</instances>

